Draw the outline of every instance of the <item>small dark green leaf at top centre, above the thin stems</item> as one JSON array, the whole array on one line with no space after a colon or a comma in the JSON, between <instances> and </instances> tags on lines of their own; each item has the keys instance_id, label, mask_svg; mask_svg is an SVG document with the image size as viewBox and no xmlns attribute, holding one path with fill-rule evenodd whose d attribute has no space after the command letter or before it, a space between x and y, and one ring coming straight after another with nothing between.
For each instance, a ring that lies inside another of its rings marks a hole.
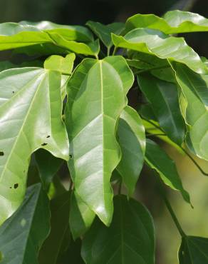
<instances>
[{"instance_id":1,"label":"small dark green leaf at top centre, above the thin stems","mask_svg":"<svg viewBox=\"0 0 208 264\"><path fill-rule=\"evenodd\" d=\"M110 49L113 46L111 39L111 33L120 35L124 29L123 23L113 23L109 25L103 25L99 22L88 21L87 26L95 33L96 36L103 42L103 44Z\"/></svg>"}]
</instances>

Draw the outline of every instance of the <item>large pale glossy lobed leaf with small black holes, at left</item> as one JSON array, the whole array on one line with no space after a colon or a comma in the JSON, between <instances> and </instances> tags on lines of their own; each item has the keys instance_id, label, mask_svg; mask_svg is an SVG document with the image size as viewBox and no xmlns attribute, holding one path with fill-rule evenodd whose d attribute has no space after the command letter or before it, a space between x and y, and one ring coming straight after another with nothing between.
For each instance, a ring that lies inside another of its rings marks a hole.
<instances>
[{"instance_id":1,"label":"large pale glossy lobed leaf with small black holes, at left","mask_svg":"<svg viewBox=\"0 0 208 264\"><path fill-rule=\"evenodd\" d=\"M45 148L68 159L61 119L61 74L43 68L0 73L0 224L24 198L31 153Z\"/></svg>"}]
</instances>

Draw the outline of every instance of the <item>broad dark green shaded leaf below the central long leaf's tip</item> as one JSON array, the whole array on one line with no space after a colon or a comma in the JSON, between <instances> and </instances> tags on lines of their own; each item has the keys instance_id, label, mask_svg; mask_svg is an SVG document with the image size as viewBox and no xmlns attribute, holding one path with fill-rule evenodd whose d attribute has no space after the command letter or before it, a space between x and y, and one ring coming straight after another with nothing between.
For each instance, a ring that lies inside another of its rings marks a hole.
<instances>
[{"instance_id":1,"label":"broad dark green shaded leaf below the central long leaf's tip","mask_svg":"<svg viewBox=\"0 0 208 264\"><path fill-rule=\"evenodd\" d=\"M155 263L154 226L145 206L125 196L116 196L114 206L110 227L96 219L83 238L85 263Z\"/></svg>"}]
</instances>

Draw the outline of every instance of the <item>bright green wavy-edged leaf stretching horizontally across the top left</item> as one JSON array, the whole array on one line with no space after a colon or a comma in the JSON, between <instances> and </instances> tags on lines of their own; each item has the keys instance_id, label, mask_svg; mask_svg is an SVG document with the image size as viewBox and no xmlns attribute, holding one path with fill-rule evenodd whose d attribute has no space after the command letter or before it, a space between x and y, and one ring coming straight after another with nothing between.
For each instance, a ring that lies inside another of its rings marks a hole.
<instances>
[{"instance_id":1,"label":"bright green wavy-edged leaf stretching horizontally across the top left","mask_svg":"<svg viewBox=\"0 0 208 264\"><path fill-rule=\"evenodd\" d=\"M43 30L44 24L46 29ZM34 25L30 25L28 22L0 24L0 51L37 44L53 44L53 46L78 54L98 54L98 43L93 42L92 34L88 29L81 26L63 26L61 28L60 25L50 24L47 21ZM88 41L88 44L76 42L83 39Z\"/></svg>"}]
</instances>

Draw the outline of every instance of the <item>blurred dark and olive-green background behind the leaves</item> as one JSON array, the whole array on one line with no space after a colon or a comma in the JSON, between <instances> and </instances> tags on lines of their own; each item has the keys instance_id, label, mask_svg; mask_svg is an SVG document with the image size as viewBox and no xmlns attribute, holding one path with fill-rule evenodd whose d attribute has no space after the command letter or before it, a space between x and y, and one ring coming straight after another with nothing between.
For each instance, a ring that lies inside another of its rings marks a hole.
<instances>
[{"instance_id":1,"label":"blurred dark and olive-green background behind the leaves","mask_svg":"<svg viewBox=\"0 0 208 264\"><path fill-rule=\"evenodd\" d=\"M207 0L0 0L0 22L49 20L58 24L85 24L90 19L109 24L113 21L125 21L128 16L137 13L161 16L172 9L193 11L208 17ZM208 57L208 33L184 36L200 56ZM162 147L177 162L184 188L189 191L194 205L194 209L190 208L180 194L167 191L185 233L208 237L208 177L203 176L187 156L170 146L162 144ZM208 172L205 161L197 162ZM155 220L156 263L177 264L180 235L155 191L155 176L147 168L142 171L136 197L147 205Z\"/></svg>"}]
</instances>

